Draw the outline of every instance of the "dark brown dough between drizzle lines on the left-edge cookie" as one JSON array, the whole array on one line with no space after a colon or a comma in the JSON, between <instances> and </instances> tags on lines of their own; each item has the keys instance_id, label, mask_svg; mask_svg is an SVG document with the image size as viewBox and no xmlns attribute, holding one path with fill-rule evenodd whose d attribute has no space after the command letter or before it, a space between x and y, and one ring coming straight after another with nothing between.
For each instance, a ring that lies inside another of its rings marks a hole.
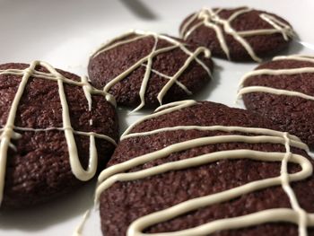
<instances>
[{"instance_id":1,"label":"dark brown dough between drizzle lines on the left-edge cookie","mask_svg":"<svg viewBox=\"0 0 314 236\"><path fill-rule=\"evenodd\" d=\"M23 70L26 64L4 64L2 70ZM43 66L37 66L40 73L47 73ZM57 70L67 79L80 81L80 77ZM0 126L7 123L13 99L22 81L22 75L0 74ZM92 94L92 110L83 92L83 87L64 83L71 125L75 131L94 132L118 140L118 118L113 105L103 95ZM2 208L35 205L52 198L71 193L84 184L76 179L70 167L68 146L64 130L47 130L49 127L63 127L63 109L58 93L57 81L30 77L18 104L14 127L33 130L16 130L18 139L11 138L15 146L8 148L5 169L4 199ZM92 119L92 124L90 120ZM2 138L4 138L2 136ZM80 162L87 169L90 157L90 137L74 134ZM103 169L115 148L114 144L95 138L99 170Z\"/></svg>"}]
</instances>

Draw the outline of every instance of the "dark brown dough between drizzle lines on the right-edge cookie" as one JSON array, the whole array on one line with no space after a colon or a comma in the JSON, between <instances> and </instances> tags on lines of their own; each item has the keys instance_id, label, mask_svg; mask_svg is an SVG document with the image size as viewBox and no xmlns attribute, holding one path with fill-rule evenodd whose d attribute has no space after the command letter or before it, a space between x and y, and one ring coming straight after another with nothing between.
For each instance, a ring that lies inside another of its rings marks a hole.
<instances>
[{"instance_id":1,"label":"dark brown dough between drizzle lines on the right-edge cookie","mask_svg":"<svg viewBox=\"0 0 314 236\"><path fill-rule=\"evenodd\" d=\"M294 59L275 60L258 66L256 70L302 67L314 67L314 62ZM255 75L250 76L243 86L266 86L314 96L314 73ZM243 101L250 111L271 119L280 130L297 135L310 148L314 147L314 101L267 92L243 94Z\"/></svg>"}]
</instances>

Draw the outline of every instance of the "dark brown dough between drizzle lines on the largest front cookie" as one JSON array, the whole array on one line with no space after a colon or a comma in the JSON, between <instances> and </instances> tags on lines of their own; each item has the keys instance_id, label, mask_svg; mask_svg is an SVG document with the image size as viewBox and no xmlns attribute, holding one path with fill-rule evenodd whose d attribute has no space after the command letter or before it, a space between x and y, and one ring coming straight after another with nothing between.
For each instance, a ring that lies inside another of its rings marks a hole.
<instances>
[{"instance_id":1,"label":"dark brown dough between drizzle lines on the largest front cookie","mask_svg":"<svg viewBox=\"0 0 314 236\"><path fill-rule=\"evenodd\" d=\"M205 101L188 108L161 115L158 118L145 120L136 125L131 130L131 134L151 131L162 127L176 126L240 126L275 129L271 121L259 115L251 114L247 110L232 109L222 104ZM108 167L132 160L146 153L161 150L170 144L178 144L179 142L205 136L234 134L239 135L240 133L193 129L128 137L118 144L112 159L109 161ZM184 160L200 154L235 149L285 152L283 144L247 144L240 142L206 144L183 152L171 153L167 157L147 162L127 172L144 170L165 162ZM300 149L292 147L291 151L310 159ZM108 236L126 235L126 230L130 223L133 223L141 216L166 209L188 199L212 195L258 179L276 177L280 175L280 170L280 162L259 162L249 159L223 160L185 170L171 170L145 179L116 182L102 192L100 196L102 232ZM290 173L299 170L299 166L289 164ZM314 197L314 177L311 176L309 179L292 183L291 186L298 197L301 207L310 213L314 212L314 205L312 204ZM174 232L196 227L217 219L252 214L265 209L279 207L291 208L290 200L283 192L283 188L281 186L265 188L237 197L231 201L183 214L164 223L158 223L146 229L145 232ZM314 235L312 228L308 232L309 235ZM215 232L211 235L295 236L297 233L298 227L293 224L265 223L245 229Z\"/></svg>"}]
</instances>

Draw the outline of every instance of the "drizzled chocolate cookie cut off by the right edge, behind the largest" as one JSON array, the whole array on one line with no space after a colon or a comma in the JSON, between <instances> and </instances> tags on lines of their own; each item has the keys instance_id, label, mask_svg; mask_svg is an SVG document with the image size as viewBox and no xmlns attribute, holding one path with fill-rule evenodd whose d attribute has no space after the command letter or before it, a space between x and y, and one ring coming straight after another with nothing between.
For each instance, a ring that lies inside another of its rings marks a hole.
<instances>
[{"instance_id":1,"label":"drizzled chocolate cookie cut off by the right edge, behind the largest","mask_svg":"<svg viewBox=\"0 0 314 236\"><path fill-rule=\"evenodd\" d=\"M314 57L275 57L246 74L239 94L247 109L314 147Z\"/></svg>"}]
</instances>

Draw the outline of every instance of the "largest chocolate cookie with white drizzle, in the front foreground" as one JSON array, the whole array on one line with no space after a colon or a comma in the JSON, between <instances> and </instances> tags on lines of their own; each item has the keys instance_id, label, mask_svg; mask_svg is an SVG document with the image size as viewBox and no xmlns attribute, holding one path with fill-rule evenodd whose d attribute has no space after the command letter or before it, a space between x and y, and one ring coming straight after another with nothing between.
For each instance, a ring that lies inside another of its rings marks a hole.
<instances>
[{"instance_id":1,"label":"largest chocolate cookie with white drizzle, in the front foreground","mask_svg":"<svg viewBox=\"0 0 314 236\"><path fill-rule=\"evenodd\" d=\"M100 174L102 232L314 235L308 147L275 128L209 101L170 103L140 119Z\"/></svg>"}]
</instances>

